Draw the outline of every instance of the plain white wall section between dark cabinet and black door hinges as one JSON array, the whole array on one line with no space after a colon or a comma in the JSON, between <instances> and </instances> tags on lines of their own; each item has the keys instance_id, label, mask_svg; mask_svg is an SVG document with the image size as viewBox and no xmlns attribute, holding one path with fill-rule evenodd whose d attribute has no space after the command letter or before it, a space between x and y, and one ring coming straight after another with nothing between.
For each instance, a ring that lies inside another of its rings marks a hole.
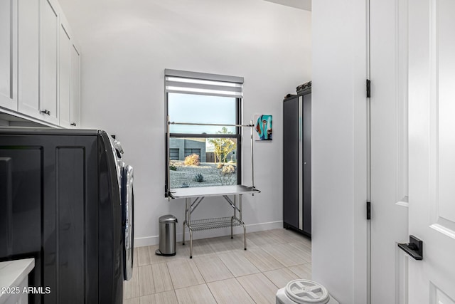
<instances>
[{"instance_id":1,"label":"plain white wall section between dark cabinet and black door hinges","mask_svg":"<svg viewBox=\"0 0 455 304\"><path fill-rule=\"evenodd\" d=\"M312 4L313 279L358 304L368 296L365 4Z\"/></svg>"}]
</instances>

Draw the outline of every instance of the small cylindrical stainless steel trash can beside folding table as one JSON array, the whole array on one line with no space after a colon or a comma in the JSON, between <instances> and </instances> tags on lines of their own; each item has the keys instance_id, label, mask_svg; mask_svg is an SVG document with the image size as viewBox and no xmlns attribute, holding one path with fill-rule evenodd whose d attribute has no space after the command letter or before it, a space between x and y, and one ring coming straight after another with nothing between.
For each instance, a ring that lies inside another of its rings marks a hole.
<instances>
[{"instance_id":1,"label":"small cylindrical stainless steel trash can beside folding table","mask_svg":"<svg viewBox=\"0 0 455 304\"><path fill-rule=\"evenodd\" d=\"M176 223L177 218L171 214L159 218L159 248L155 254L158 256L176 255Z\"/></svg>"}]
</instances>

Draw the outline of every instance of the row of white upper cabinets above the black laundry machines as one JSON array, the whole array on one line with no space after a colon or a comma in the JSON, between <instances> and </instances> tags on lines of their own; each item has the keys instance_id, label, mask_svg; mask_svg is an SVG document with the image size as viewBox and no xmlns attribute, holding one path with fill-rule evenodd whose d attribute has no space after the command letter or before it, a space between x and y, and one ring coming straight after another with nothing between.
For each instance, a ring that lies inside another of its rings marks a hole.
<instances>
[{"instance_id":1,"label":"row of white upper cabinets above the black laundry machines","mask_svg":"<svg viewBox=\"0 0 455 304\"><path fill-rule=\"evenodd\" d=\"M0 112L79 127L80 52L57 0L0 0Z\"/></svg>"}]
</instances>

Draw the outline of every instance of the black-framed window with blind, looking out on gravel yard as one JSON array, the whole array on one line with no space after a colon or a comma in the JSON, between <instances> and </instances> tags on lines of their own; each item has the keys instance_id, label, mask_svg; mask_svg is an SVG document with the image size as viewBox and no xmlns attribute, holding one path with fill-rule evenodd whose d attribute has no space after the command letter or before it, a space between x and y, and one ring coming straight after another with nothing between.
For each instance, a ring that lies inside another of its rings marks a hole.
<instances>
[{"instance_id":1,"label":"black-framed window with blind, looking out on gravel yard","mask_svg":"<svg viewBox=\"0 0 455 304\"><path fill-rule=\"evenodd\" d=\"M240 184L242 130L235 125L241 123L243 78L181 70L165 74L171 122L167 126L166 120L166 189L168 184L170 189Z\"/></svg>"}]
</instances>

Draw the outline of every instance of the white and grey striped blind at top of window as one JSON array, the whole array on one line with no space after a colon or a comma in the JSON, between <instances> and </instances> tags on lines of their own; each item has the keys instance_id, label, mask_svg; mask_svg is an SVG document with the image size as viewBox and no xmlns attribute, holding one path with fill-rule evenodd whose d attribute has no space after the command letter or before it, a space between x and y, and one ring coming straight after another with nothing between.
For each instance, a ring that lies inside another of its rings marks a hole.
<instances>
[{"instance_id":1,"label":"white and grey striped blind at top of window","mask_svg":"<svg viewBox=\"0 0 455 304\"><path fill-rule=\"evenodd\" d=\"M243 97L242 77L169 69L164 73L166 93Z\"/></svg>"}]
</instances>

